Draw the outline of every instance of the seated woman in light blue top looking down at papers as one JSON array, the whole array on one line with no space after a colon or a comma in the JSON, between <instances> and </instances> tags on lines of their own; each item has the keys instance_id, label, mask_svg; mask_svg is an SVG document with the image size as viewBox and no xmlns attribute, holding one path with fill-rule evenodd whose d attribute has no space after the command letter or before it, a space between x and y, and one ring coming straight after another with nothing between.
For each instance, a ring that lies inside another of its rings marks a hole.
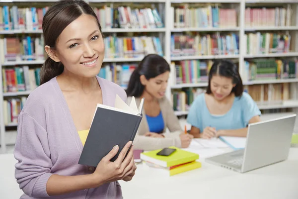
<instances>
[{"instance_id":1,"label":"seated woman in light blue top looking down at papers","mask_svg":"<svg viewBox=\"0 0 298 199\"><path fill-rule=\"evenodd\" d=\"M221 60L211 67L206 94L194 100L187 122L196 138L246 137L247 125L260 121L260 115L255 101L243 92L235 64Z\"/></svg>"}]
</instances>

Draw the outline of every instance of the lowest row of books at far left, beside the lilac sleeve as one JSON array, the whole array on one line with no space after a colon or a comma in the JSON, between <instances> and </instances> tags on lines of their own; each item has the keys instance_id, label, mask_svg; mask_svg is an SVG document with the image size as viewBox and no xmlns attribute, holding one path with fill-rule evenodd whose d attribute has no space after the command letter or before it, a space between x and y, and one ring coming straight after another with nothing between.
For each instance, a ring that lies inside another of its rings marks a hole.
<instances>
[{"instance_id":1,"label":"lowest row of books at far left, beside the lilac sleeve","mask_svg":"<svg viewBox=\"0 0 298 199\"><path fill-rule=\"evenodd\" d=\"M3 100L4 125L17 124L18 115L25 105L26 100L26 97Z\"/></svg>"}]
</instances>

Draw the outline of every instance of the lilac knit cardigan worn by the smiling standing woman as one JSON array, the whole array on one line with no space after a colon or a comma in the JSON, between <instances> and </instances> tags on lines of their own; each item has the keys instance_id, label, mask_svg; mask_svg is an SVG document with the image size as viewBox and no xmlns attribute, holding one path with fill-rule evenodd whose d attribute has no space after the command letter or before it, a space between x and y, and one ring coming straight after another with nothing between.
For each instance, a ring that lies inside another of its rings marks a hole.
<instances>
[{"instance_id":1,"label":"lilac knit cardigan worn by the smiling standing woman","mask_svg":"<svg viewBox=\"0 0 298 199\"><path fill-rule=\"evenodd\" d=\"M102 102L114 106L116 94L126 101L118 85L97 77ZM15 178L25 193L21 199L49 197L46 184L53 174L74 176L94 172L78 164L83 145L56 77L35 89L18 118L14 157ZM53 199L122 199L118 182L81 190Z\"/></svg>"}]
</instances>

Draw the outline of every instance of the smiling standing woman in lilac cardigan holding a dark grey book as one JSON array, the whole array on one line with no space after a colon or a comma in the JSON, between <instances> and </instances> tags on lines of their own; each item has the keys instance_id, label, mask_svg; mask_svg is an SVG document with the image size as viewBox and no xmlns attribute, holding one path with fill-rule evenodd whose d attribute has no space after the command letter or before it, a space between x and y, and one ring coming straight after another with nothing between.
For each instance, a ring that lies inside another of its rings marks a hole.
<instances>
[{"instance_id":1,"label":"smiling standing woman in lilac cardigan holding a dark grey book","mask_svg":"<svg viewBox=\"0 0 298 199\"><path fill-rule=\"evenodd\" d=\"M14 150L21 199L122 199L117 180L130 181L136 170L131 142L114 162L117 145L96 168L78 164L97 103L126 100L118 85L96 77L104 58L96 14L83 0L58 1L42 28L49 57L19 115Z\"/></svg>"}]
</instances>

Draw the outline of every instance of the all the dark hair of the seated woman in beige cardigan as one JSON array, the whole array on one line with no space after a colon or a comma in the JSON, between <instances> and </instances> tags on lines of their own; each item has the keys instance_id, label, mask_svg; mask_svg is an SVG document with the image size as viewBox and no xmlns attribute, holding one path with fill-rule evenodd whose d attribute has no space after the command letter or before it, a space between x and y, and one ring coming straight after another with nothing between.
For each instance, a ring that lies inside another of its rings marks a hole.
<instances>
[{"instance_id":1,"label":"all the dark hair of the seated woman in beige cardigan","mask_svg":"<svg viewBox=\"0 0 298 199\"><path fill-rule=\"evenodd\" d=\"M134 96L136 98L142 96L145 87L141 84L141 75L144 75L149 80L167 71L170 71L170 66L163 57L156 54L145 56L130 77L126 90L127 96Z\"/></svg>"}]
</instances>

